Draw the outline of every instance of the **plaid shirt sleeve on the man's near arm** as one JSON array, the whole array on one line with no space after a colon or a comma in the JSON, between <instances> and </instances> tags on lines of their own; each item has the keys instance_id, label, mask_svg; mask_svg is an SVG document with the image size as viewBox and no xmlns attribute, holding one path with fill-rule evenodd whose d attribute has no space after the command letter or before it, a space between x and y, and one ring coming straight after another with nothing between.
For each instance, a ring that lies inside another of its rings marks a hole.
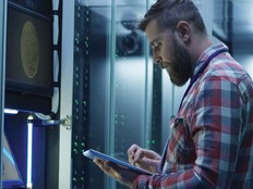
<instances>
[{"instance_id":1,"label":"plaid shirt sleeve on the man's near arm","mask_svg":"<svg viewBox=\"0 0 253 189\"><path fill-rule=\"evenodd\" d=\"M193 167L141 175L135 188L229 188L242 137L242 103L238 84L219 76L206 78L185 111L195 144Z\"/></svg>"}]
</instances>

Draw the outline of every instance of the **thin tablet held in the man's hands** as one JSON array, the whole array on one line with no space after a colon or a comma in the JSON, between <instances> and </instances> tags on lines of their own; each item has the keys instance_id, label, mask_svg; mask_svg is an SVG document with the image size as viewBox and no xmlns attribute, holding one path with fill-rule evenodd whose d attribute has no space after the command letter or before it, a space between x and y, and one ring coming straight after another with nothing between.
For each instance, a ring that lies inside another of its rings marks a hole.
<instances>
[{"instance_id":1,"label":"thin tablet held in the man's hands","mask_svg":"<svg viewBox=\"0 0 253 189\"><path fill-rule=\"evenodd\" d=\"M122 160L119 160L119 159L116 159L116 158L112 158L112 156L109 156L105 153L101 153L101 152L98 152L96 150L93 150L93 149L89 149L89 150L86 150L85 152L83 152L84 156L93 160L95 158L98 158L98 159L101 159L101 160L106 160L106 161L110 161L110 162L113 162L122 167L125 167L125 168L129 168L131 171L135 171L135 172L138 172L141 174L145 174L145 175L152 175L150 172L148 171L145 171L143 168L140 168L140 167L136 167L134 165L131 165L130 163L125 162L125 161L122 161Z\"/></svg>"}]
</instances>

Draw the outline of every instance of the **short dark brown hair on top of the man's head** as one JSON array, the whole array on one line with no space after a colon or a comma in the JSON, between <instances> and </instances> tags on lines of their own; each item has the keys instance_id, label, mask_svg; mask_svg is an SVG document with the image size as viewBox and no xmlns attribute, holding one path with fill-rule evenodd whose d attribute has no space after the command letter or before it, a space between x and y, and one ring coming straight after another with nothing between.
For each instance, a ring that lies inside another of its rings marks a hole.
<instances>
[{"instance_id":1,"label":"short dark brown hair on top of the man's head","mask_svg":"<svg viewBox=\"0 0 253 189\"><path fill-rule=\"evenodd\" d=\"M180 21L186 21L196 32L206 33L202 15L192 0L157 0L140 21L138 29L145 32L152 20L156 20L160 30L174 30Z\"/></svg>"}]
</instances>

